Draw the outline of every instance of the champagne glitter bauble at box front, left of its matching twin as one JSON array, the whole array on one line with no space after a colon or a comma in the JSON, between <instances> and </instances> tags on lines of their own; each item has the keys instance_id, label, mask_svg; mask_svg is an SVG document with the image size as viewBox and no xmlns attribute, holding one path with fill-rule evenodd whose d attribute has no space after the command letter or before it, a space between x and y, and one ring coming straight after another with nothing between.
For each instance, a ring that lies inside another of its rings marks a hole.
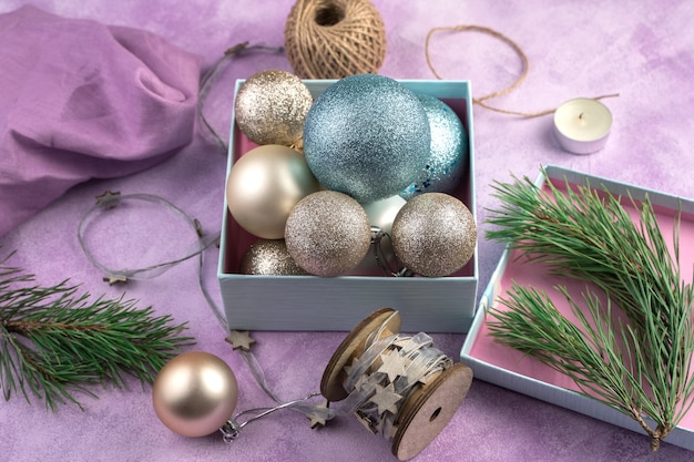
<instances>
[{"instance_id":1,"label":"champagne glitter bauble at box front, left of its matching twin","mask_svg":"<svg viewBox=\"0 0 694 462\"><path fill-rule=\"evenodd\" d=\"M319 191L292 209L285 240L302 268L317 276L337 276L361 261L371 244L371 226L354 198Z\"/></svg>"}]
</instances>

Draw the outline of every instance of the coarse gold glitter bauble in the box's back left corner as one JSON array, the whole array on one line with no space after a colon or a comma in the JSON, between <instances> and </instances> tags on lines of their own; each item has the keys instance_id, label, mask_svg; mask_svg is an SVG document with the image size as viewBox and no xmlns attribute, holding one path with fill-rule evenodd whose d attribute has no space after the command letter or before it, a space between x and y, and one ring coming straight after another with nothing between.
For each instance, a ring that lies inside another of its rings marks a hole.
<instances>
[{"instance_id":1,"label":"coarse gold glitter bauble in the box's back left corner","mask_svg":"<svg viewBox=\"0 0 694 462\"><path fill-rule=\"evenodd\" d=\"M235 119L251 141L290 146L302 138L312 104L310 91L298 76L282 70L261 71L238 89Z\"/></svg>"}]
</instances>

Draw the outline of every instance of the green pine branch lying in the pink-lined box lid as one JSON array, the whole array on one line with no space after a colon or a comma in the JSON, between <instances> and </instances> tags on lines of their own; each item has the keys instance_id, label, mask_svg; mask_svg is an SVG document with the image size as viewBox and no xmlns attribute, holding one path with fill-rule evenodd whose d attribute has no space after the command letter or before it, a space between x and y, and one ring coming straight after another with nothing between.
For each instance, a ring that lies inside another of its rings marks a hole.
<instances>
[{"instance_id":1,"label":"green pine branch lying in the pink-lined box lid","mask_svg":"<svg viewBox=\"0 0 694 462\"><path fill-rule=\"evenodd\" d=\"M547 296L514 286L510 298L501 300L509 311L492 311L492 336L565 373L584 394L635 419L656 450L694 401L690 370L694 286L681 280L680 218L673 258L647 198L641 205L631 201L640 209L634 224L620 198L606 191L600 194L589 184L572 189L567 184L564 193L550 181L547 186L549 193L528 178L497 184L496 197L503 205L492 211L489 223L498 228L487 236L508 243L531 261L547 264L553 274L590 284L583 296L589 316L564 288L558 289L579 326L559 314ZM606 304L599 294L606 295Z\"/></svg>"}]
</instances>

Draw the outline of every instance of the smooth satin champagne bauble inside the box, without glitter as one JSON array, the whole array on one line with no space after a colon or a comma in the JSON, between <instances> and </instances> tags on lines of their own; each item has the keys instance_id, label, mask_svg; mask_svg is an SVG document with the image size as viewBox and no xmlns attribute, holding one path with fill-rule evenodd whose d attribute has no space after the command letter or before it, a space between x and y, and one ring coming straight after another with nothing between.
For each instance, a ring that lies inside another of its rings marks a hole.
<instances>
[{"instance_id":1,"label":"smooth satin champagne bauble inside the box, without glitter","mask_svg":"<svg viewBox=\"0 0 694 462\"><path fill-rule=\"evenodd\" d=\"M282 239L292 207L320 185L304 156L277 144L258 146L232 167L228 209L241 227L264 239Z\"/></svg>"}]
</instances>

